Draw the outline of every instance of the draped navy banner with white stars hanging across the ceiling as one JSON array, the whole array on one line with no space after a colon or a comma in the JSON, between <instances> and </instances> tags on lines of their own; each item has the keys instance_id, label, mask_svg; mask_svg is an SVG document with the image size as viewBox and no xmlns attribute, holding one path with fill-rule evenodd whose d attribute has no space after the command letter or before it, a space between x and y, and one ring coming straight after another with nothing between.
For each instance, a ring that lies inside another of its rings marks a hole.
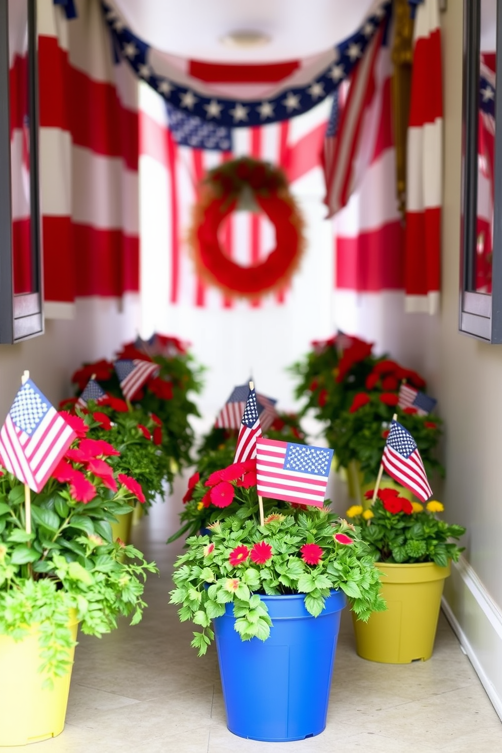
<instances>
[{"instance_id":1,"label":"draped navy banner with white stars hanging across the ceiling","mask_svg":"<svg viewBox=\"0 0 502 753\"><path fill-rule=\"evenodd\" d=\"M256 94L239 99L220 96L214 88L190 77L172 64L172 56L160 53L132 33L120 14L111 5L102 3L106 22L111 31L114 50L129 62L139 78L153 87L169 105L201 123L239 128L277 123L309 111L332 94L351 74L364 56L381 23L391 14L389 0L377 0L370 14L353 35L321 56L321 69L309 66L295 70L286 83L281 81L272 93L262 99ZM308 77L308 75L310 76ZM308 80L305 80L306 75ZM301 83L300 83L301 82ZM245 87L244 87L245 88Z\"/></svg>"}]
</instances>

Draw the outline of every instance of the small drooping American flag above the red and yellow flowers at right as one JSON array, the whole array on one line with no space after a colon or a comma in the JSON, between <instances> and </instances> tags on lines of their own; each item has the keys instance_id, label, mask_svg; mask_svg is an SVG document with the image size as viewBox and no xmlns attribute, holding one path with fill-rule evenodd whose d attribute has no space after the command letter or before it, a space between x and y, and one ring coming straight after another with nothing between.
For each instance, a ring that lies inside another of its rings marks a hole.
<instances>
[{"instance_id":1,"label":"small drooping American flag above the red and yellow flowers at right","mask_svg":"<svg viewBox=\"0 0 502 753\"><path fill-rule=\"evenodd\" d=\"M394 420L385 444L382 465L389 476L406 486L422 502L431 498L432 489L417 444L409 431Z\"/></svg>"}]
</instances>

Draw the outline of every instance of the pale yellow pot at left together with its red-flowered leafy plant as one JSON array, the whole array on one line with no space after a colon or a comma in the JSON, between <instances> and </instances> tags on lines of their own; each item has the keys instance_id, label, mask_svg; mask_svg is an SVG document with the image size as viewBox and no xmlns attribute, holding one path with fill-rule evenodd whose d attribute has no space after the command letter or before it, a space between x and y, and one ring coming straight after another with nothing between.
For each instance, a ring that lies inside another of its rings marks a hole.
<instances>
[{"instance_id":1,"label":"pale yellow pot at left together with its red-flowered leafy plant","mask_svg":"<svg viewBox=\"0 0 502 753\"><path fill-rule=\"evenodd\" d=\"M87 437L89 416L59 416L76 438L38 492L0 468L0 746L62 732L78 626L101 636L120 615L137 623L157 572L112 540L111 523L144 499L138 482L114 470L111 444Z\"/></svg>"}]
</instances>

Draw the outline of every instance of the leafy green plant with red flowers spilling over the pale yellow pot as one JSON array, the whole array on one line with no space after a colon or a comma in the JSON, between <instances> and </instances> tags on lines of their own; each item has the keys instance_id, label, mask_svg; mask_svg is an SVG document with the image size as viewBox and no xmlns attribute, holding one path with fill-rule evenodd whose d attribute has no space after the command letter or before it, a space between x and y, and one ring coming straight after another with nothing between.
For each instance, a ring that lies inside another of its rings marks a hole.
<instances>
[{"instance_id":1,"label":"leafy green plant with red flowers spilling over the pale yellow pot","mask_svg":"<svg viewBox=\"0 0 502 753\"><path fill-rule=\"evenodd\" d=\"M86 437L84 420L65 419L78 439L44 489L32 493L31 532L24 485L0 469L0 633L18 640L39 627L49 684L68 671L70 615L94 636L116 628L120 615L137 623L146 575L157 572L138 549L112 540L111 523L145 499L138 482L114 471L107 461L117 450Z\"/></svg>"}]
</instances>

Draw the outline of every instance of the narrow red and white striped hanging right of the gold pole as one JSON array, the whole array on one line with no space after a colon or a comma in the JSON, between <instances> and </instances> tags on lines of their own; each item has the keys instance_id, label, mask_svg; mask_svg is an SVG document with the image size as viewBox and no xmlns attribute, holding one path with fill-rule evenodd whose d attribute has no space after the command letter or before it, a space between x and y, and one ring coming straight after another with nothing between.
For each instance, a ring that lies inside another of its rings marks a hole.
<instances>
[{"instance_id":1,"label":"narrow red and white striped hanging right of the gold pole","mask_svg":"<svg viewBox=\"0 0 502 753\"><path fill-rule=\"evenodd\" d=\"M434 314L440 303L443 202L443 86L438 0L415 15L406 157L406 311Z\"/></svg>"}]
</instances>

